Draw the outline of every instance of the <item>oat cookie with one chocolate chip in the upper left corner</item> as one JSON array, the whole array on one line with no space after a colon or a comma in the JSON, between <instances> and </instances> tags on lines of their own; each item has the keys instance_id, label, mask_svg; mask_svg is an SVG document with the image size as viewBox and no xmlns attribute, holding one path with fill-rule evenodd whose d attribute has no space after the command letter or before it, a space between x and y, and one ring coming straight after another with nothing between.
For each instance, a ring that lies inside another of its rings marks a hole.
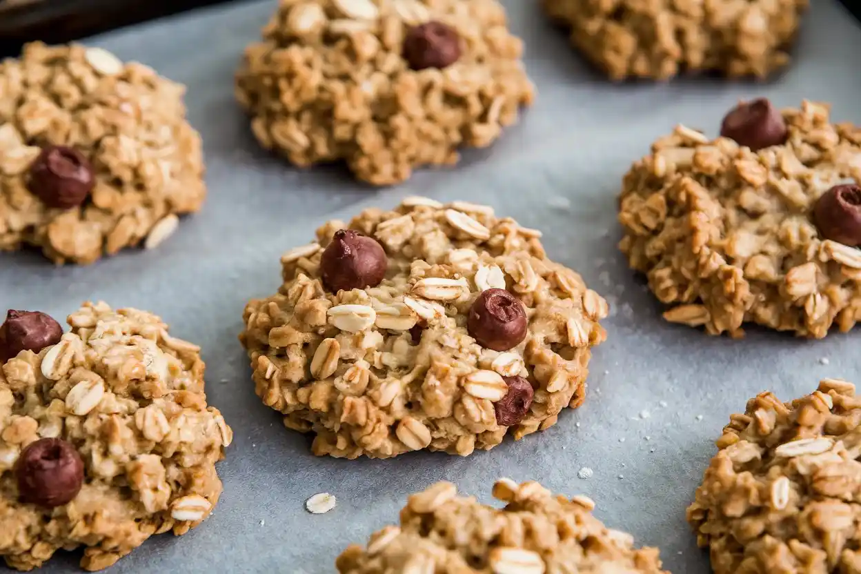
<instances>
[{"instance_id":1,"label":"oat cookie with one chocolate chip in the upper left corner","mask_svg":"<svg viewBox=\"0 0 861 574\"><path fill-rule=\"evenodd\" d=\"M183 91L101 48L34 43L0 62L0 250L29 244L54 262L90 263L166 238L206 195ZM52 145L66 146L86 188L68 166L47 184L34 173Z\"/></svg>"}]
</instances>

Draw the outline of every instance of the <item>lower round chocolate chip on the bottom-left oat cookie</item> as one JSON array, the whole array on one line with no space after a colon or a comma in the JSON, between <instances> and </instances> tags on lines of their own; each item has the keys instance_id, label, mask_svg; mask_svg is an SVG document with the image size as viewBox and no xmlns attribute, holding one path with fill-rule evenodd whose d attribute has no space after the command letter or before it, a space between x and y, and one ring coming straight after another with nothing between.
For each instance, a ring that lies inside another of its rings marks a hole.
<instances>
[{"instance_id":1,"label":"lower round chocolate chip on the bottom-left oat cookie","mask_svg":"<svg viewBox=\"0 0 861 574\"><path fill-rule=\"evenodd\" d=\"M22 502L53 508L70 503L84 483L84 461L61 439L31 442L15 463Z\"/></svg>"}]
</instances>

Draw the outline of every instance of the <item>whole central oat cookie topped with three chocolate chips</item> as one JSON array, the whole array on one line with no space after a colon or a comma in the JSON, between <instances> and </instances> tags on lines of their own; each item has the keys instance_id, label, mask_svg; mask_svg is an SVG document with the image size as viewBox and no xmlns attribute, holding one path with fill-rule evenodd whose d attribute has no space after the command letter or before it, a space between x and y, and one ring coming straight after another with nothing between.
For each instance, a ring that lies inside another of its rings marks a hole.
<instances>
[{"instance_id":1,"label":"whole central oat cookie topped with three chocolate chips","mask_svg":"<svg viewBox=\"0 0 861 574\"><path fill-rule=\"evenodd\" d=\"M257 395L314 454L489 449L585 398L607 303L491 207L407 198L282 256L239 337Z\"/></svg>"}]
</instances>

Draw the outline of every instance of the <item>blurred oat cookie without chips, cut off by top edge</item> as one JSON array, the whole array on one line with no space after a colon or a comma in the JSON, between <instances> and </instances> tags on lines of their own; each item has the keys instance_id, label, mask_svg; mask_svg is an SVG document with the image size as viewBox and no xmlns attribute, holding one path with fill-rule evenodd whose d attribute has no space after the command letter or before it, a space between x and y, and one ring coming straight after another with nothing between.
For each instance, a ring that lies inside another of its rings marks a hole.
<instances>
[{"instance_id":1,"label":"blurred oat cookie without chips, cut off by top edge","mask_svg":"<svg viewBox=\"0 0 861 574\"><path fill-rule=\"evenodd\" d=\"M542 0L613 80L720 72L766 77L789 62L808 0Z\"/></svg>"}]
</instances>

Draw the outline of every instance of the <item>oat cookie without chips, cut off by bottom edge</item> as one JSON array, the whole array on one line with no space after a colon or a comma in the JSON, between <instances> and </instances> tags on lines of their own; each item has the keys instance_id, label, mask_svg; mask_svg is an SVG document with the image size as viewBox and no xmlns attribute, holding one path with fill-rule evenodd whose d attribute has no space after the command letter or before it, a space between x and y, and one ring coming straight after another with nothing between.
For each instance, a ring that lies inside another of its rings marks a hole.
<instances>
[{"instance_id":1,"label":"oat cookie without chips, cut off by bottom edge","mask_svg":"<svg viewBox=\"0 0 861 574\"><path fill-rule=\"evenodd\" d=\"M400 528L373 534L367 548L349 546L338 572L666 574L657 548L635 548L630 534L604 527L587 497L569 500L508 478L493 485L493 496L505 508L458 497L448 482L432 485L407 499Z\"/></svg>"}]
</instances>

